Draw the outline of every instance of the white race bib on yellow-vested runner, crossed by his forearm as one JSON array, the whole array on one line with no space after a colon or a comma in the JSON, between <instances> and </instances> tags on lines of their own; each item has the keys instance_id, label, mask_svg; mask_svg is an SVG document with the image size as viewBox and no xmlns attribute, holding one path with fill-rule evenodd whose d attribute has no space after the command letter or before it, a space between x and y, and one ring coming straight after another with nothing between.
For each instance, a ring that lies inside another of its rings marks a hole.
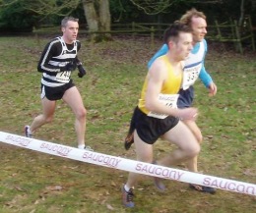
<instances>
[{"instance_id":1,"label":"white race bib on yellow-vested runner, crossed by his forearm","mask_svg":"<svg viewBox=\"0 0 256 213\"><path fill-rule=\"evenodd\" d=\"M178 94L159 94L160 103L170 108L177 108L177 100L178 100ZM149 112L148 116L154 117L157 119L165 119L168 115Z\"/></svg>"}]
</instances>

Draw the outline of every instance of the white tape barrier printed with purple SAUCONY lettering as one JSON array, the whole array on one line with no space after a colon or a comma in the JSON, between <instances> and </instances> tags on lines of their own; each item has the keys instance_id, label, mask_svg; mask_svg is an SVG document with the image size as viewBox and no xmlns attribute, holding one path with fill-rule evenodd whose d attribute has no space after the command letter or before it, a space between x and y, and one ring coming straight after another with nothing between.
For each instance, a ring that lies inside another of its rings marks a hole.
<instances>
[{"instance_id":1,"label":"white tape barrier printed with purple SAUCONY lettering","mask_svg":"<svg viewBox=\"0 0 256 213\"><path fill-rule=\"evenodd\" d=\"M143 163L140 161L129 160L121 157L101 154L98 152L78 149L62 144L20 136L13 133L0 132L0 141L51 155L96 164L99 166L139 173L147 176L155 176L162 179L174 180L184 183L211 186L254 196L256 195L256 185L253 184L172 169L149 163Z\"/></svg>"}]
</instances>

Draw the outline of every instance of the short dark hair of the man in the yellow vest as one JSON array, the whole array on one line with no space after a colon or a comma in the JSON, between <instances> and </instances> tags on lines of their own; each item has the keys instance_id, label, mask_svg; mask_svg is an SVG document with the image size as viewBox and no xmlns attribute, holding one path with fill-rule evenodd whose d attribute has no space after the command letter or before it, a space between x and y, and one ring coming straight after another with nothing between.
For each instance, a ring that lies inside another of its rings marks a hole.
<instances>
[{"instance_id":1,"label":"short dark hair of the man in the yellow vest","mask_svg":"<svg viewBox=\"0 0 256 213\"><path fill-rule=\"evenodd\" d=\"M192 32L192 29L191 27L186 26L179 21L176 21L165 29L163 34L164 43L167 44L170 40L177 42L180 32Z\"/></svg>"}]
</instances>

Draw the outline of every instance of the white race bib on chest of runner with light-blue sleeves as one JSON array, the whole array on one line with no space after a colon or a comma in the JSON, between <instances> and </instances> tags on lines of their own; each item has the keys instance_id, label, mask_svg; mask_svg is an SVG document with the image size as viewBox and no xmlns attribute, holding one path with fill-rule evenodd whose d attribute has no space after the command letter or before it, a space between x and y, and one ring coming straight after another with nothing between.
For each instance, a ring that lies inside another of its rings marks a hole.
<instances>
[{"instance_id":1,"label":"white race bib on chest of runner with light-blue sleeves","mask_svg":"<svg viewBox=\"0 0 256 213\"><path fill-rule=\"evenodd\" d=\"M202 68L202 63L193 66L191 68L184 68L183 72L183 81L182 81L182 88L185 90L190 85L193 85L195 81L198 79Z\"/></svg>"}]
</instances>

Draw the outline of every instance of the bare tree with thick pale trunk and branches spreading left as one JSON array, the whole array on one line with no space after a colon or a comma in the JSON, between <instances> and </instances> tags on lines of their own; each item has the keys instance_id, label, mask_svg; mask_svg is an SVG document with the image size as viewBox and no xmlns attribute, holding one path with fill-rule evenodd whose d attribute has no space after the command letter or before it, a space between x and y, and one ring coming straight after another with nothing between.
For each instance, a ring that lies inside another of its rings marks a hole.
<instances>
[{"instance_id":1,"label":"bare tree with thick pale trunk and branches spreading left","mask_svg":"<svg viewBox=\"0 0 256 213\"><path fill-rule=\"evenodd\" d=\"M41 20L52 15L69 16L82 3L91 39L94 41L111 39L109 0L0 0L0 7L7 7L17 2L22 2L26 10L38 14Z\"/></svg>"}]
</instances>

